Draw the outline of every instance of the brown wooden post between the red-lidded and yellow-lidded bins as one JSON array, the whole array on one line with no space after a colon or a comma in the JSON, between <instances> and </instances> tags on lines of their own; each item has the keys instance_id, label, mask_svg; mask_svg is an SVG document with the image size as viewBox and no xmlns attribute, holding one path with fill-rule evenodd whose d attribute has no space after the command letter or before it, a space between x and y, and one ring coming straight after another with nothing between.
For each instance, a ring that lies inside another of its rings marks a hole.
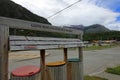
<instances>
[{"instance_id":1,"label":"brown wooden post between the red-lidded and yellow-lidded bins","mask_svg":"<svg viewBox=\"0 0 120 80\"><path fill-rule=\"evenodd\" d=\"M41 56L41 80L46 80L46 66L45 66L45 50L40 50L40 56Z\"/></svg>"}]
</instances>

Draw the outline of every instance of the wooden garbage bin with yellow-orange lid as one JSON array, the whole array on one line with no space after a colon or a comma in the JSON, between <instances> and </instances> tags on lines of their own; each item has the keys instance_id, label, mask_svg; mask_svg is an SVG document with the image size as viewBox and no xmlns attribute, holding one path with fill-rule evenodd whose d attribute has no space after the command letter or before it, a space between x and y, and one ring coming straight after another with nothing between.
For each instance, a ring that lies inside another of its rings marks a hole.
<instances>
[{"instance_id":1,"label":"wooden garbage bin with yellow-orange lid","mask_svg":"<svg viewBox=\"0 0 120 80\"><path fill-rule=\"evenodd\" d=\"M64 61L47 63L46 69L51 78L47 80L67 80L66 63Z\"/></svg>"}]
</instances>

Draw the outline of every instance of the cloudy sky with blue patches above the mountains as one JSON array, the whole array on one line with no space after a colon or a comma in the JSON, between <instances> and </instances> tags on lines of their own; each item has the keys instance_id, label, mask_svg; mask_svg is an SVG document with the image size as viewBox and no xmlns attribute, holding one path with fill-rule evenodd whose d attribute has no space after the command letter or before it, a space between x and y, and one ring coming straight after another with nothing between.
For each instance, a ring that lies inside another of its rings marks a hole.
<instances>
[{"instance_id":1,"label":"cloudy sky with blue patches above the mountains","mask_svg":"<svg viewBox=\"0 0 120 80\"><path fill-rule=\"evenodd\" d=\"M49 17L78 0L12 0L31 12ZM82 0L48 19L53 25L102 24L120 30L120 0Z\"/></svg>"}]
</instances>

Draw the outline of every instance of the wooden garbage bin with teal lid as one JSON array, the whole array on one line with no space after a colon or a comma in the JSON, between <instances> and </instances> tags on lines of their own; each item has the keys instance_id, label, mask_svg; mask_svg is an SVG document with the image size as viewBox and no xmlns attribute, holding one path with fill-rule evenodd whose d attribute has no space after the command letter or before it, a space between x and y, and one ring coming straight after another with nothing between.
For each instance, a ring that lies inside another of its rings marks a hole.
<instances>
[{"instance_id":1,"label":"wooden garbage bin with teal lid","mask_svg":"<svg viewBox=\"0 0 120 80\"><path fill-rule=\"evenodd\" d=\"M80 80L81 75L81 65L80 59L78 58L70 58L68 59L68 76L70 80Z\"/></svg>"}]
</instances>

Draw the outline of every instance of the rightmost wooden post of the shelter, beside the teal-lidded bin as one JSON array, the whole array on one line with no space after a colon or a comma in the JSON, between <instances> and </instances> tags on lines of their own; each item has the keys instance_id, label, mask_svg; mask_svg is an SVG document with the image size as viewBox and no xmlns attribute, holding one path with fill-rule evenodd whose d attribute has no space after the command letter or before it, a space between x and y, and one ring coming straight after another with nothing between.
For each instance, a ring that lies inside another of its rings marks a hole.
<instances>
[{"instance_id":1,"label":"rightmost wooden post of the shelter, beside the teal-lidded bin","mask_svg":"<svg viewBox=\"0 0 120 80\"><path fill-rule=\"evenodd\" d=\"M82 35L78 35L78 38L82 40ZM78 48L78 54L80 59L80 80L84 80L84 74L83 74L83 48L82 46Z\"/></svg>"}]
</instances>

